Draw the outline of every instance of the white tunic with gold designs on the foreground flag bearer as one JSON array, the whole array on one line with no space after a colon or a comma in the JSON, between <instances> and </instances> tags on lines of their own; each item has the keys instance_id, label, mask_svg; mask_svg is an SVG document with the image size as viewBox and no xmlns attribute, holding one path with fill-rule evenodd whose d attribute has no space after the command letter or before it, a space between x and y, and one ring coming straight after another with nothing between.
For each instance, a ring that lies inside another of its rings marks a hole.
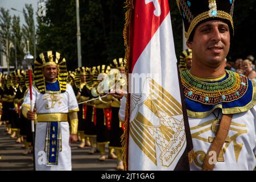
<instances>
[{"instance_id":1,"label":"white tunic with gold designs on the foreground flag bearer","mask_svg":"<svg viewBox=\"0 0 256 182\"><path fill-rule=\"evenodd\" d=\"M125 106L126 98L123 97L119 110L122 121L125 120ZM218 110L214 113L217 116ZM221 117L220 111L218 118ZM212 131L214 119L216 119L214 114L206 118L188 117L193 150L196 153L196 158L190 165L191 170L202 170L205 155L212 144L209 142L209 137L216 136ZM230 142L225 142L222 147L224 162L217 162L213 170L253 170L256 167L256 106L248 111L233 114L228 136Z\"/></svg>"}]
</instances>

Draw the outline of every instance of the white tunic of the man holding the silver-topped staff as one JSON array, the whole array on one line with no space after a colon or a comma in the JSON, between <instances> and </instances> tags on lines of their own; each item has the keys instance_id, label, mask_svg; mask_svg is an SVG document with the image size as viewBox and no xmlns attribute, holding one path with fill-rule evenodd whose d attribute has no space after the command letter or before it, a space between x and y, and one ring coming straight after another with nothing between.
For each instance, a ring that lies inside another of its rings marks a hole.
<instances>
[{"instance_id":1,"label":"white tunic of the man holding the silver-topped staff","mask_svg":"<svg viewBox=\"0 0 256 182\"><path fill-rule=\"evenodd\" d=\"M64 93L40 93L34 86L32 87L32 105L36 108L37 114L66 113L78 110L76 96L71 85L67 84ZM26 94L23 105L30 105L30 92ZM62 151L58 155L57 165L47 165L47 153L44 151L46 143L47 122L36 124L35 134L35 163L36 170L71 170L71 146L69 146L69 123L60 122Z\"/></svg>"}]
</instances>

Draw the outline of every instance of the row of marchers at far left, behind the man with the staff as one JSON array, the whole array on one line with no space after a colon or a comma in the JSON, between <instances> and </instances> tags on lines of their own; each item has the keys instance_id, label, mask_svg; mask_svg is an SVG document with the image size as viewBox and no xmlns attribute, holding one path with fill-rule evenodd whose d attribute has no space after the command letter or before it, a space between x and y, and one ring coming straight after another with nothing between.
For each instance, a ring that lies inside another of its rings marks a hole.
<instances>
[{"instance_id":1,"label":"row of marchers at far left, behind the man with the staff","mask_svg":"<svg viewBox=\"0 0 256 182\"><path fill-rule=\"evenodd\" d=\"M31 123L21 114L20 106L28 92L28 71L16 69L8 74L0 73L0 125L16 143L24 143L23 155L32 152Z\"/></svg>"}]
</instances>

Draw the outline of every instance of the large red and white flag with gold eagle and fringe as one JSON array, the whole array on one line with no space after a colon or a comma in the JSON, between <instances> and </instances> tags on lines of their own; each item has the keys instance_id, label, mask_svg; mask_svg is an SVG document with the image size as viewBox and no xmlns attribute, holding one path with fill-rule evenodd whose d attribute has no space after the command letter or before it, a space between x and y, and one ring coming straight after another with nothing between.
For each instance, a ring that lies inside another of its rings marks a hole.
<instances>
[{"instance_id":1,"label":"large red and white flag with gold eagle and fringe","mask_svg":"<svg viewBox=\"0 0 256 182\"><path fill-rule=\"evenodd\" d=\"M192 140L181 104L168 0L127 0L126 8L125 167L189 170Z\"/></svg>"}]
</instances>

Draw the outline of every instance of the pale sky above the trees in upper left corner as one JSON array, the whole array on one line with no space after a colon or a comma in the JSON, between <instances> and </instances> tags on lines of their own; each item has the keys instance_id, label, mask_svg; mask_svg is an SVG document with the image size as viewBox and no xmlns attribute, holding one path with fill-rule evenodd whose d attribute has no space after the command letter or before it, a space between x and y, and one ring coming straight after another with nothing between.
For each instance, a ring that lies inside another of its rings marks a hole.
<instances>
[{"instance_id":1,"label":"pale sky above the trees in upper left corner","mask_svg":"<svg viewBox=\"0 0 256 182\"><path fill-rule=\"evenodd\" d=\"M22 11L25 7L25 4L32 4L32 7L34 9L34 21L36 23L36 11L38 6L38 0L0 0L0 7L4 7L5 9L10 10L10 15L19 15L20 17L20 26L25 23L23 13L20 13L18 11L11 10L11 7L13 7L16 10ZM37 23L36 23L37 24Z\"/></svg>"}]
</instances>

